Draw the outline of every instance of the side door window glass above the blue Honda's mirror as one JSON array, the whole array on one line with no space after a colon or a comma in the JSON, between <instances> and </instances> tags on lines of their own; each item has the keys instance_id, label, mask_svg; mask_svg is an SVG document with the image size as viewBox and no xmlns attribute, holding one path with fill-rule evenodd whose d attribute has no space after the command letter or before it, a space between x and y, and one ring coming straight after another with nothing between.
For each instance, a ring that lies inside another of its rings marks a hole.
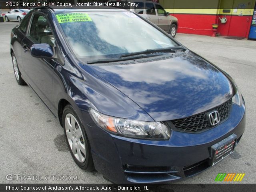
<instances>
[{"instance_id":1,"label":"side door window glass above the blue Honda's mirror","mask_svg":"<svg viewBox=\"0 0 256 192\"><path fill-rule=\"evenodd\" d=\"M35 14L33 16L28 36L38 43L46 43L50 46L54 45L54 36L52 35L50 24L42 15Z\"/></svg>"}]
</instances>

